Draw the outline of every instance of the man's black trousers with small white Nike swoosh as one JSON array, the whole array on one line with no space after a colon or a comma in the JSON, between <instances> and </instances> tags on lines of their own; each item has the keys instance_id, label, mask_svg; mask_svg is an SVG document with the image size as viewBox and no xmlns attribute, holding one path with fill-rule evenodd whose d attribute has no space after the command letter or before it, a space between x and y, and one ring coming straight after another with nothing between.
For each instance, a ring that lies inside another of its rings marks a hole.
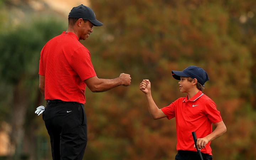
<instances>
[{"instance_id":1,"label":"man's black trousers with small white Nike swoosh","mask_svg":"<svg viewBox=\"0 0 256 160\"><path fill-rule=\"evenodd\" d=\"M53 160L82 160L87 144L84 105L47 101L43 120L50 135Z\"/></svg>"}]
</instances>

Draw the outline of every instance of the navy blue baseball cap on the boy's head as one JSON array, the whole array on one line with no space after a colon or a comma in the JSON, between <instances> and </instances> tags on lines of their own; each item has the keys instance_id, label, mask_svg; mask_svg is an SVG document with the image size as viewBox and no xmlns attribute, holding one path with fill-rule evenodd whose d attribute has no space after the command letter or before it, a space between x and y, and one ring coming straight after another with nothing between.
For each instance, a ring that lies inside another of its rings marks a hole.
<instances>
[{"instance_id":1,"label":"navy blue baseball cap on the boy's head","mask_svg":"<svg viewBox=\"0 0 256 160\"><path fill-rule=\"evenodd\" d=\"M209 80L209 77L202 68L198 66L189 66L185 68L183 71L172 71L172 76L180 80L180 77L191 77L191 78L196 78L197 81L204 86L204 83Z\"/></svg>"}]
</instances>

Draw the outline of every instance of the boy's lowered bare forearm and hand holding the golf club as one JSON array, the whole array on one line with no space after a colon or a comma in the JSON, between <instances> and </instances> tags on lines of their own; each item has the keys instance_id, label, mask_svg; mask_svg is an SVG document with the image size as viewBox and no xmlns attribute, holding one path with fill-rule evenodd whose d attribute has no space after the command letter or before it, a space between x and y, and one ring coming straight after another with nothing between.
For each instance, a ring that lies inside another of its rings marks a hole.
<instances>
[{"instance_id":1,"label":"boy's lowered bare forearm and hand holding the golf club","mask_svg":"<svg viewBox=\"0 0 256 160\"><path fill-rule=\"evenodd\" d=\"M224 134L226 132L226 126L225 126L223 121L220 121L218 123L214 123L214 126L216 128L214 129L214 131L212 133L208 134L204 138L198 138L197 139L198 149L204 148L208 142L220 137L222 134Z\"/></svg>"}]
</instances>

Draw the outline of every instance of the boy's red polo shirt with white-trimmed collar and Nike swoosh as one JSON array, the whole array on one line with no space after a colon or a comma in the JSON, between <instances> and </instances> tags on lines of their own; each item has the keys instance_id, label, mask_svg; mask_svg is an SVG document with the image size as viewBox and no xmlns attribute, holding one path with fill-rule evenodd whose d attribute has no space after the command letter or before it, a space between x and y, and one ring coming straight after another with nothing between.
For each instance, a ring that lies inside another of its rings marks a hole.
<instances>
[{"instance_id":1,"label":"boy's red polo shirt with white-trimmed collar and Nike swoosh","mask_svg":"<svg viewBox=\"0 0 256 160\"><path fill-rule=\"evenodd\" d=\"M215 103L201 91L190 100L187 97L178 98L169 106L161 109L168 119L176 120L177 150L197 151L191 132L195 131L197 138L206 137L212 133L212 123L222 121ZM212 155L210 142L202 153Z\"/></svg>"}]
</instances>

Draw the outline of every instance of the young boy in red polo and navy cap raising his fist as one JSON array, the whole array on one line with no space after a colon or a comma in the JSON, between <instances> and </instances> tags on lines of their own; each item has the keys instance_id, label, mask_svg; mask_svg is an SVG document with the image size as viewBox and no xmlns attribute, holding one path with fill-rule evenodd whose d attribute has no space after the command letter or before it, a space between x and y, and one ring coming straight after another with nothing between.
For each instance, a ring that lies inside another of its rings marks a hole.
<instances>
[{"instance_id":1,"label":"young boy in red polo and navy cap raising his fist","mask_svg":"<svg viewBox=\"0 0 256 160\"><path fill-rule=\"evenodd\" d=\"M189 66L183 71L172 71L172 76L180 80L180 91L186 97L178 98L169 106L159 109L150 91L150 81L143 80L140 90L144 92L148 109L153 119L167 117L176 120L178 151L175 160L199 160L191 132L197 135L197 147L201 149L204 160L212 160L210 141L226 132L220 112L215 103L202 93L204 83L209 80L206 71L197 66ZM212 132L212 123L216 127Z\"/></svg>"}]
</instances>

